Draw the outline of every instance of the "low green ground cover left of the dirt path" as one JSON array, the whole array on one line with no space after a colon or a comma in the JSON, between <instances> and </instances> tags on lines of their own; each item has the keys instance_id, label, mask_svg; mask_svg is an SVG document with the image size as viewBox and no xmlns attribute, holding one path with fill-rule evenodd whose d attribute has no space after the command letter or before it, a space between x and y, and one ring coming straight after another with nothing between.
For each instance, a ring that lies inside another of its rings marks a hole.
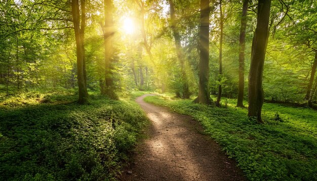
<instances>
[{"instance_id":1,"label":"low green ground cover left of the dirt path","mask_svg":"<svg viewBox=\"0 0 317 181\"><path fill-rule=\"evenodd\" d=\"M67 92L0 98L0 180L113 180L148 123L132 100Z\"/></svg>"}]
</instances>

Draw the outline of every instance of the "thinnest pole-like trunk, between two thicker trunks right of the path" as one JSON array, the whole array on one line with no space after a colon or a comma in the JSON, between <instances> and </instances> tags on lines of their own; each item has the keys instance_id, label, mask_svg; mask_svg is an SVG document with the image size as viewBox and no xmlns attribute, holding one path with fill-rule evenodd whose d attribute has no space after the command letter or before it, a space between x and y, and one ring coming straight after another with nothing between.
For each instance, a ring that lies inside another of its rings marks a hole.
<instances>
[{"instance_id":1,"label":"thinnest pole-like trunk, between two thicker trunks right of the path","mask_svg":"<svg viewBox=\"0 0 317 181\"><path fill-rule=\"evenodd\" d=\"M219 1L220 6L220 48L219 48L219 89L216 106L220 107L220 100L222 94L221 78L222 78L222 40L223 40L223 15L222 15L222 1Z\"/></svg>"}]
</instances>

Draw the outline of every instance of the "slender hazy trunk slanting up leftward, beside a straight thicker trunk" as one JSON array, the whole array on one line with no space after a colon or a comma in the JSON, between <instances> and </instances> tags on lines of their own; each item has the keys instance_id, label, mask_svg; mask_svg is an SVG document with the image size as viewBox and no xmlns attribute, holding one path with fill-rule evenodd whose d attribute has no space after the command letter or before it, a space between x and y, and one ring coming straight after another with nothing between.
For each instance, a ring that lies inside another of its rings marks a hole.
<instances>
[{"instance_id":1,"label":"slender hazy trunk slanting up leftward, beside a straight thicker trunk","mask_svg":"<svg viewBox=\"0 0 317 181\"><path fill-rule=\"evenodd\" d=\"M181 70L182 98L189 99L190 93L189 93L189 87L188 87L187 74L185 71L185 55L181 47L181 37L176 27L175 7L172 0L169 0L169 4L170 4L170 14L171 14L171 29L173 31L176 54L180 63L180 70Z\"/></svg>"}]
</instances>

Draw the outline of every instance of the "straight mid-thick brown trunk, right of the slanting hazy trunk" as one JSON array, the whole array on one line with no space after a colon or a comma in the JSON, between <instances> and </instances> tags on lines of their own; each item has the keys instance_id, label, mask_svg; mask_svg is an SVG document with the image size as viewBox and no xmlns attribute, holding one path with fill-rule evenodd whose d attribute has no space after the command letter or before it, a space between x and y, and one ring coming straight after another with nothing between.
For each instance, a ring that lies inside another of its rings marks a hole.
<instances>
[{"instance_id":1,"label":"straight mid-thick brown trunk, right of the slanting hazy trunk","mask_svg":"<svg viewBox=\"0 0 317 181\"><path fill-rule=\"evenodd\" d=\"M201 0L198 103L211 104L209 94L209 0Z\"/></svg>"}]
</instances>

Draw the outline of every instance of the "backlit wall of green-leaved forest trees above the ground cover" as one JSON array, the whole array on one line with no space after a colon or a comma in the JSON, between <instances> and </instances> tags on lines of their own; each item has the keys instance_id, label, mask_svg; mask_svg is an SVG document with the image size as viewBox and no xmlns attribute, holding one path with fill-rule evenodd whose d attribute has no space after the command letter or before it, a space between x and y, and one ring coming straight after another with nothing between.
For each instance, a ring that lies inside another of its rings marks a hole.
<instances>
[{"instance_id":1,"label":"backlit wall of green-leaved forest trees above the ground cover","mask_svg":"<svg viewBox=\"0 0 317 181\"><path fill-rule=\"evenodd\" d=\"M196 94L203 104L214 94L217 106L221 96L237 97L236 106L244 107L250 66L250 117L261 122L263 99L314 107L315 2L272 1L267 11L269 2L5 1L0 89L78 87L78 102L85 103L88 89L115 99L137 88L183 99ZM134 33L122 28L128 18Z\"/></svg>"}]
</instances>

